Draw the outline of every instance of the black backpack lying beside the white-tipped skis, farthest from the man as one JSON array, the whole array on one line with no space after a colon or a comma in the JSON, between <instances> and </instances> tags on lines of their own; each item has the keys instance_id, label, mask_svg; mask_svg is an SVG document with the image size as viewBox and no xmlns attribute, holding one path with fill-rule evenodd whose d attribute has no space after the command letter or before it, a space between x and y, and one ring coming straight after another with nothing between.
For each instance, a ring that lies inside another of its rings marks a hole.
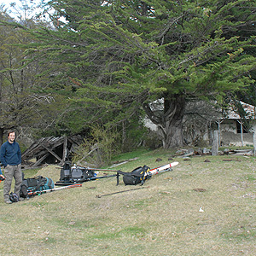
<instances>
[{"instance_id":1,"label":"black backpack lying beside the white-tipped skis, farthest from the man","mask_svg":"<svg viewBox=\"0 0 256 256\"><path fill-rule=\"evenodd\" d=\"M125 185L136 185L138 183L141 183L141 185L143 185L145 180L152 177L152 174L149 172L149 170L150 169L148 166L139 166L132 172L118 171L117 184L119 184L119 174L122 174Z\"/></svg>"}]
</instances>

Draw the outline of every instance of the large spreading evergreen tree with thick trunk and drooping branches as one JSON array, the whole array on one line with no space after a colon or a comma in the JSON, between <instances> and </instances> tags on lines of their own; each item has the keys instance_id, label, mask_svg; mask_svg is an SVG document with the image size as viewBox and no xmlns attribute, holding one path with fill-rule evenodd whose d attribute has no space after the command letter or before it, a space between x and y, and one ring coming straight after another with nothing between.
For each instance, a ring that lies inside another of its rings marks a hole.
<instances>
[{"instance_id":1,"label":"large spreading evergreen tree with thick trunk and drooping branches","mask_svg":"<svg viewBox=\"0 0 256 256\"><path fill-rule=\"evenodd\" d=\"M31 50L68 63L82 108L115 123L143 108L164 148L182 146L186 102L222 103L253 84L255 3L55 0L56 29L35 32L44 44Z\"/></svg>"}]
</instances>

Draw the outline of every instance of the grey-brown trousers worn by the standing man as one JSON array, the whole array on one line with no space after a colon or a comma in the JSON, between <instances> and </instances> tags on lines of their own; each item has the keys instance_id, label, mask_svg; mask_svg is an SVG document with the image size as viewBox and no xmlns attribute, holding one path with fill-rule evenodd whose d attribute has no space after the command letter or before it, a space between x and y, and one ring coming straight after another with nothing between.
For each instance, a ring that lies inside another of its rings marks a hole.
<instances>
[{"instance_id":1,"label":"grey-brown trousers worn by the standing man","mask_svg":"<svg viewBox=\"0 0 256 256\"><path fill-rule=\"evenodd\" d=\"M4 168L4 184L3 184L3 199L9 200L9 191L11 189L13 177L15 178L15 194L20 196L20 186L22 183L21 165L18 166L6 166Z\"/></svg>"}]
</instances>

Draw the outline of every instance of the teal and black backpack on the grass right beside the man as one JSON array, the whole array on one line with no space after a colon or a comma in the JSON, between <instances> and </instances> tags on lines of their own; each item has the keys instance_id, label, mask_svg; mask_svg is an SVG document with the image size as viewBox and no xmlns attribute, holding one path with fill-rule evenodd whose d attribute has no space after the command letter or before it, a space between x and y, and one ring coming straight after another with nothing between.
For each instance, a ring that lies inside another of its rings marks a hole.
<instances>
[{"instance_id":1,"label":"teal and black backpack on the grass right beside the man","mask_svg":"<svg viewBox=\"0 0 256 256\"><path fill-rule=\"evenodd\" d=\"M30 177L24 178L20 187L20 197L28 197L28 192L43 191L47 189L54 189L55 183L50 177Z\"/></svg>"}]
</instances>

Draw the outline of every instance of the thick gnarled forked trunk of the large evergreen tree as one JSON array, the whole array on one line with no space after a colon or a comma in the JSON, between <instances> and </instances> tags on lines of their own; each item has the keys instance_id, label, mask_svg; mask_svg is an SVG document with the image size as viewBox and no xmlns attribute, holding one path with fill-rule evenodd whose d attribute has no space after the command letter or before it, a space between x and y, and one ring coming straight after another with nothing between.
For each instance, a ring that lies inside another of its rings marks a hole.
<instances>
[{"instance_id":1,"label":"thick gnarled forked trunk of the large evergreen tree","mask_svg":"<svg viewBox=\"0 0 256 256\"><path fill-rule=\"evenodd\" d=\"M153 109L148 104L143 104L143 109L148 118L158 125L163 148L177 148L183 146L183 116L185 99L183 96L166 95L163 103L164 109Z\"/></svg>"}]
</instances>

